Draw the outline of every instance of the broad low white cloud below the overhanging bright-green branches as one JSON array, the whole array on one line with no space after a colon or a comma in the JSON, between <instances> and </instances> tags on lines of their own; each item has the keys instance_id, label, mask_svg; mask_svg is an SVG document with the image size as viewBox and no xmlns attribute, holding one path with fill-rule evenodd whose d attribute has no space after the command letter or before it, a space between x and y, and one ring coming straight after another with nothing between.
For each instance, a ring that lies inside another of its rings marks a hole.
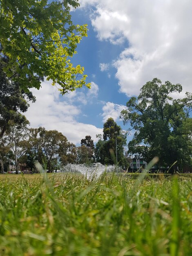
<instances>
[{"instance_id":1,"label":"broad low white cloud below the overhanging bright-green branches","mask_svg":"<svg viewBox=\"0 0 192 256\"><path fill-rule=\"evenodd\" d=\"M51 82L43 82L39 91L34 88L31 91L36 96L36 103L31 103L29 110L25 113L31 127L43 126L47 130L58 130L74 144L79 144L86 135L92 136L92 139L97 141L96 134L102 133L101 128L76 121L82 113L79 106L71 102L80 96L83 97L82 93L74 92L60 97L60 93L51 85ZM98 91L96 84L93 91L96 95Z\"/></svg>"}]
</instances>

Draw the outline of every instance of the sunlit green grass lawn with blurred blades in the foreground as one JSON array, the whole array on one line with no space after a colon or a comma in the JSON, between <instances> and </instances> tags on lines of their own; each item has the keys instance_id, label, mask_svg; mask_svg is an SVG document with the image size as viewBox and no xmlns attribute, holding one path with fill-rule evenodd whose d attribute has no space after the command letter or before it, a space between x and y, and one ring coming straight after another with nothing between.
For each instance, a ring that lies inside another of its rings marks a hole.
<instances>
[{"instance_id":1,"label":"sunlit green grass lawn with blurred blades in the foreground","mask_svg":"<svg viewBox=\"0 0 192 256\"><path fill-rule=\"evenodd\" d=\"M191 256L190 176L0 175L0 256Z\"/></svg>"}]
</instances>

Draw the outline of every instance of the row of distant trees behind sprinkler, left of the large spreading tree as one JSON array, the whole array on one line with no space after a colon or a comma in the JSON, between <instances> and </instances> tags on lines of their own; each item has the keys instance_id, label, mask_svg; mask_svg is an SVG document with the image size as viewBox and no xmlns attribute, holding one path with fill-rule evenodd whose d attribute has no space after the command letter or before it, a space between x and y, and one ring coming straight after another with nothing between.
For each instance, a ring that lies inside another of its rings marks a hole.
<instances>
[{"instance_id":1,"label":"row of distant trees behind sprinkler, left of the large spreading tree","mask_svg":"<svg viewBox=\"0 0 192 256\"><path fill-rule=\"evenodd\" d=\"M104 124L103 137L99 139L96 146L90 135L81 139L81 146L75 146L57 130L46 130L44 127L28 128L28 121L22 124L12 124L0 140L0 164L1 172L4 173L9 164L14 164L16 173L20 165L35 170L35 162L38 161L44 169L49 172L60 169L66 164L114 164L115 141L114 131L119 130L117 135L118 143L118 164L123 162L123 145L125 136L121 134L119 127L112 118ZM115 127L114 127L114 126ZM106 128L107 127L107 128ZM110 133L110 135L109 135ZM98 135L100 136L100 135ZM105 136L109 136L107 139Z\"/></svg>"}]
</instances>

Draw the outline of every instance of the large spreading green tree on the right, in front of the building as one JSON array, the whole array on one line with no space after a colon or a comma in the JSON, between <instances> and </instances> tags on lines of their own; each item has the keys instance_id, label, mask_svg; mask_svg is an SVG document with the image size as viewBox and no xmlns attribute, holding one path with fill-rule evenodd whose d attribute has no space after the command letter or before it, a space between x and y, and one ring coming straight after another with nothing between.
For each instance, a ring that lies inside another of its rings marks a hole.
<instances>
[{"instance_id":1,"label":"large spreading green tree on the right, in front of the building","mask_svg":"<svg viewBox=\"0 0 192 256\"><path fill-rule=\"evenodd\" d=\"M180 84L162 84L155 78L143 85L137 99L127 102L121 118L135 130L128 145L130 153L139 153L147 160L158 156L159 166L171 166L176 161L179 167L192 164L192 93L186 92L183 99L171 96L181 91Z\"/></svg>"}]
</instances>

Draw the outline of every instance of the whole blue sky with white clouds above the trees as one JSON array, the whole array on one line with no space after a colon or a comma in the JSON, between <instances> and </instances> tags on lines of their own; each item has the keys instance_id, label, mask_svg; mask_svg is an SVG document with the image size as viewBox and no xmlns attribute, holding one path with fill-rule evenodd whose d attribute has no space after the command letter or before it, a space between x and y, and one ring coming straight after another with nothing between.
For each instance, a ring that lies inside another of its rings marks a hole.
<instances>
[{"instance_id":1,"label":"whole blue sky with white clouds above the trees","mask_svg":"<svg viewBox=\"0 0 192 256\"><path fill-rule=\"evenodd\" d=\"M77 146L90 135L96 144L109 117L127 130L121 110L147 81L180 83L183 92L176 98L192 92L191 0L79 2L72 20L89 31L71 62L85 68L92 88L61 96L45 79L40 90L32 90L36 103L26 112L31 127L58 130Z\"/></svg>"}]
</instances>

